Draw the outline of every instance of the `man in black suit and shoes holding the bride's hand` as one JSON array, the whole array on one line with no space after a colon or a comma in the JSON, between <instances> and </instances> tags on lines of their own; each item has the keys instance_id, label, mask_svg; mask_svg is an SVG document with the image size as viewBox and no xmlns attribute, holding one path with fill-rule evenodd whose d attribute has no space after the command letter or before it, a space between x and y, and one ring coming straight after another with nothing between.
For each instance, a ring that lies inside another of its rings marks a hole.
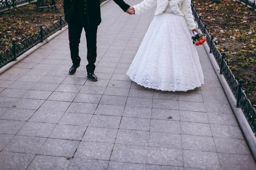
<instances>
[{"instance_id":1,"label":"man in black suit and shoes holding the bride's hand","mask_svg":"<svg viewBox=\"0 0 256 170\"><path fill-rule=\"evenodd\" d=\"M134 9L123 0L113 0L117 5L131 14ZM92 81L97 81L94 74L97 57L97 28L101 23L100 0L63 0L65 20L68 23L68 37L70 44L70 54L73 62L69 74L75 74L80 66L79 43L82 29L84 28L87 41L87 77Z\"/></svg>"}]
</instances>

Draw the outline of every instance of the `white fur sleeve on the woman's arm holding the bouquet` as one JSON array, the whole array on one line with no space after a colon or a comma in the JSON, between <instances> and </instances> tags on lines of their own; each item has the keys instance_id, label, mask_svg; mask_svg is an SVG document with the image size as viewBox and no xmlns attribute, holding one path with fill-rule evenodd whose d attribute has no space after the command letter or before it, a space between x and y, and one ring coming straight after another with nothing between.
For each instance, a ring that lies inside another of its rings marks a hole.
<instances>
[{"instance_id":1,"label":"white fur sleeve on the woman's arm holding the bouquet","mask_svg":"<svg viewBox=\"0 0 256 170\"><path fill-rule=\"evenodd\" d=\"M184 14L186 23L189 29L193 30L196 28L195 21L193 20L192 10L191 10L191 0L185 0L182 3L181 11Z\"/></svg>"}]
</instances>

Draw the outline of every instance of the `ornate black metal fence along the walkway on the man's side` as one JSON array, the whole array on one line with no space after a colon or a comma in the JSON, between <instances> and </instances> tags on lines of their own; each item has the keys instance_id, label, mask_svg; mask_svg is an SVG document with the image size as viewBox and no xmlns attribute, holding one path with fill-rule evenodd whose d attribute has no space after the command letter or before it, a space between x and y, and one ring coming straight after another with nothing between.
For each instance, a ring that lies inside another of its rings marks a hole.
<instances>
[{"instance_id":1,"label":"ornate black metal fence along the walkway on the man's side","mask_svg":"<svg viewBox=\"0 0 256 170\"><path fill-rule=\"evenodd\" d=\"M12 46L10 48L0 51L0 68L8 62L16 60L18 56L37 45L39 42L43 42L44 39L61 30L61 28L66 25L67 22L64 17L60 16L60 19L57 22L47 27L40 26L40 29L35 34L32 34L21 41L16 42L16 40L12 40Z\"/></svg>"}]
</instances>

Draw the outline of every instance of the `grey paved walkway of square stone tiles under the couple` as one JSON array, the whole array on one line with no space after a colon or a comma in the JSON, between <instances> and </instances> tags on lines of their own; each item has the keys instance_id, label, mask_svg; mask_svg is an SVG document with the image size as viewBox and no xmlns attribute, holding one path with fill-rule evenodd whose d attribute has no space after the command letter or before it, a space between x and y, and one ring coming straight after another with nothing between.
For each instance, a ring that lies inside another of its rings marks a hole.
<instances>
[{"instance_id":1,"label":"grey paved walkway of square stone tiles under the couple","mask_svg":"<svg viewBox=\"0 0 256 170\"><path fill-rule=\"evenodd\" d=\"M255 170L203 46L205 85L194 91L148 90L125 75L153 17L102 6L98 82L86 77L84 34L68 75L67 31L0 75L0 169Z\"/></svg>"}]
</instances>

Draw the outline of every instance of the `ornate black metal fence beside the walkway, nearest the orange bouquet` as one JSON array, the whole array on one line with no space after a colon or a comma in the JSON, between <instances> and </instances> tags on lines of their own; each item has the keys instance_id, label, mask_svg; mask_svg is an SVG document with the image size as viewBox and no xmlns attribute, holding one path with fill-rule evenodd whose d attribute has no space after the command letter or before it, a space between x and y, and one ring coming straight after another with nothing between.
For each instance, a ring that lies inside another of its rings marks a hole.
<instances>
[{"instance_id":1,"label":"ornate black metal fence beside the walkway, nearest the orange bouquet","mask_svg":"<svg viewBox=\"0 0 256 170\"><path fill-rule=\"evenodd\" d=\"M198 27L202 31L203 34L206 34L207 44L210 47L210 53L216 59L220 67L220 74L223 74L225 79L227 80L228 85L230 86L231 91L233 92L234 96L236 97L237 103L236 107L239 107L244 112L244 115L247 121L250 124L253 132L256 132L256 109L251 104L250 100L247 99L246 94L244 93L243 87L243 80L237 81L235 76L232 74L227 62L225 61L225 53L220 53L218 48L216 47L215 43L213 42L213 35L209 35L207 32L207 26L201 21L201 16L198 15L194 5L191 5L193 15L195 16L195 21L198 23Z\"/></svg>"}]
</instances>

